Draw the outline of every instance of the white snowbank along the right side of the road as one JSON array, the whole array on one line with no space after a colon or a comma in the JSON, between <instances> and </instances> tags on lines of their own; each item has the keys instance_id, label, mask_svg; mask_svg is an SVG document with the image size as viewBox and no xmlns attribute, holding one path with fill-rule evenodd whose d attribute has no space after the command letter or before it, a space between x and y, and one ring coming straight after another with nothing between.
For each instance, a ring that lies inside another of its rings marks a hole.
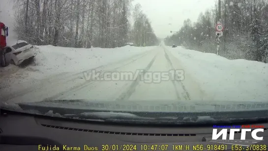
<instances>
[{"instance_id":1,"label":"white snowbank along the right side of the road","mask_svg":"<svg viewBox=\"0 0 268 151\"><path fill-rule=\"evenodd\" d=\"M268 64L166 47L214 100L268 101ZM187 78L187 77L185 77Z\"/></svg>"}]
</instances>

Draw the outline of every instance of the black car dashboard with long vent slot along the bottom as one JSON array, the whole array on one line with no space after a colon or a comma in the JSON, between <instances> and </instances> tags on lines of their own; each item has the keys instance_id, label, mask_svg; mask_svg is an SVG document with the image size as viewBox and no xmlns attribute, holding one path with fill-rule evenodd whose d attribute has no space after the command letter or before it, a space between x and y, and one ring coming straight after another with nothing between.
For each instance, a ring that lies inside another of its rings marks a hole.
<instances>
[{"instance_id":1,"label":"black car dashboard with long vent slot along the bottom","mask_svg":"<svg viewBox=\"0 0 268 151\"><path fill-rule=\"evenodd\" d=\"M235 140L211 141L212 126L126 125L1 110L0 151L267 151L268 123L256 125L265 126L263 141L236 141L239 133Z\"/></svg>"}]
</instances>

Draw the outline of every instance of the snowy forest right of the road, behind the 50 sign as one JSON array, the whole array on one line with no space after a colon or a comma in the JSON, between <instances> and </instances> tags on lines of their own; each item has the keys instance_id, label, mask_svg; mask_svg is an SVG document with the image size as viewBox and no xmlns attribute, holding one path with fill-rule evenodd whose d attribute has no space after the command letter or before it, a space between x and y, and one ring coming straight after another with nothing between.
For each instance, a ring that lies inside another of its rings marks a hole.
<instances>
[{"instance_id":1,"label":"snowy forest right of the road, behind the 50 sign","mask_svg":"<svg viewBox=\"0 0 268 151\"><path fill-rule=\"evenodd\" d=\"M185 30L187 27L184 25L179 33L167 37L166 44L181 43L179 37L184 33L190 49L215 53L214 28L220 20L225 27L220 45L221 56L268 62L268 30L264 28L268 25L268 1L221 0L219 4L201 13L197 22L191 25L191 30ZM215 18L216 22L213 21Z\"/></svg>"}]
</instances>

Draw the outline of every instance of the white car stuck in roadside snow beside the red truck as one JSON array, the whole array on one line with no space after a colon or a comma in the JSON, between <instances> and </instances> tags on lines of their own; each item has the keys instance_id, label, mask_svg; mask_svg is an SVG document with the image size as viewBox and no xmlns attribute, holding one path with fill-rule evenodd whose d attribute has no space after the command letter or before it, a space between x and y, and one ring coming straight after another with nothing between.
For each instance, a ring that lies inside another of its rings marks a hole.
<instances>
[{"instance_id":1,"label":"white car stuck in roadside snow beside the red truck","mask_svg":"<svg viewBox=\"0 0 268 151\"><path fill-rule=\"evenodd\" d=\"M13 46L4 47L6 64L19 65L24 60L33 59L36 55L33 46L27 42L20 42Z\"/></svg>"}]
</instances>

